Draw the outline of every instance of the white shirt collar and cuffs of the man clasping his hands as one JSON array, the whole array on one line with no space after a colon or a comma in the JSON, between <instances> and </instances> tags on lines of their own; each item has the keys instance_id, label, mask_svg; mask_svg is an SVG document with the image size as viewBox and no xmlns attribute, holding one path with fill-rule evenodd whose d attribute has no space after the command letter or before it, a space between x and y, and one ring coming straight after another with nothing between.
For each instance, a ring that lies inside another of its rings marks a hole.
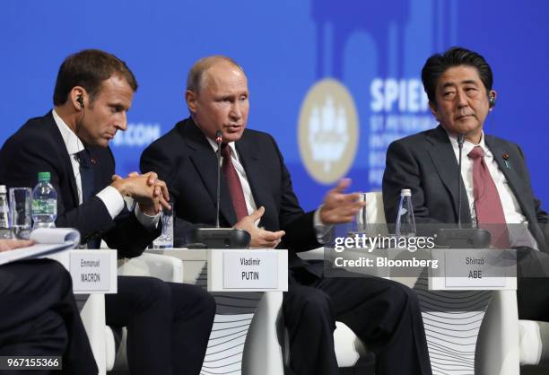
<instances>
[{"instance_id":1,"label":"white shirt collar and cuffs of the man clasping his hands","mask_svg":"<svg viewBox=\"0 0 549 375\"><path fill-rule=\"evenodd\" d=\"M71 165L73 166L74 179L76 180L76 189L78 190L78 204L82 205L83 196L82 196L82 179L80 177L80 162L76 153L83 151L84 145L80 138L74 134L73 130L65 124L63 118L60 118L56 110L52 110L52 115L56 121L57 128L63 137L65 142L66 151L69 154L71 159ZM107 210L109 211L110 217L114 219L118 216L124 209L124 197L118 192L116 188L108 186L102 189L96 194L97 197L103 202ZM135 217L141 224L147 229L154 229L158 226L160 215L150 216L144 214L143 211L139 208L139 205L135 205Z\"/></svg>"}]
</instances>

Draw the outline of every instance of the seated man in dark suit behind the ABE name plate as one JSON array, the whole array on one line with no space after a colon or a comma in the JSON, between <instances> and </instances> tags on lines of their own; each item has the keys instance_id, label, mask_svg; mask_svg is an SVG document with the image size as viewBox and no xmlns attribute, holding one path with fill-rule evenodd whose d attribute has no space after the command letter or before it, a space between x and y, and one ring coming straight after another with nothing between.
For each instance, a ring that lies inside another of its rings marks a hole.
<instances>
[{"instance_id":1,"label":"seated man in dark suit behind the ABE name plate","mask_svg":"<svg viewBox=\"0 0 549 375\"><path fill-rule=\"evenodd\" d=\"M473 51L450 48L443 55L433 55L427 60L422 79L431 112L440 125L389 145L383 176L388 222L395 222L400 190L411 188L416 222L457 223L458 184L461 184L461 222L484 225L492 235L504 233L506 247L518 245L518 240L521 245L527 243L542 250L537 254L543 259L549 244L549 215L534 196L524 155L517 144L484 134L484 120L496 100L490 65ZM465 138L459 180L458 135ZM484 154L479 170L475 170L474 150L482 150ZM484 175L486 178L476 179L482 170L489 172ZM483 189L491 189L492 193L482 195ZM491 202L488 216L484 213L487 202ZM497 228L506 223L527 227L527 241L514 236L512 226L509 231ZM492 244L495 245L493 239ZM538 257L531 251L526 257L530 256ZM539 278L541 274L527 275L521 269L522 264L518 266L522 276L538 276L518 280L519 318L549 319L547 279Z\"/></svg>"}]
</instances>

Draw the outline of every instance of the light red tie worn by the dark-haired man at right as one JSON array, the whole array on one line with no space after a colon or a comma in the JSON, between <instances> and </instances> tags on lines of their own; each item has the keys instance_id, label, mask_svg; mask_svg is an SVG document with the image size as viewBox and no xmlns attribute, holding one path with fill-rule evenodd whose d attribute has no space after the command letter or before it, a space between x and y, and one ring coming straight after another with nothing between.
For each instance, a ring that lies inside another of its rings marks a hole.
<instances>
[{"instance_id":1,"label":"light red tie worn by the dark-haired man at right","mask_svg":"<svg viewBox=\"0 0 549 375\"><path fill-rule=\"evenodd\" d=\"M475 146L467 156L473 159L473 196L478 226L490 231L494 248L509 249L509 232L503 206L490 170L484 161L484 150L481 146Z\"/></svg>"}]
</instances>

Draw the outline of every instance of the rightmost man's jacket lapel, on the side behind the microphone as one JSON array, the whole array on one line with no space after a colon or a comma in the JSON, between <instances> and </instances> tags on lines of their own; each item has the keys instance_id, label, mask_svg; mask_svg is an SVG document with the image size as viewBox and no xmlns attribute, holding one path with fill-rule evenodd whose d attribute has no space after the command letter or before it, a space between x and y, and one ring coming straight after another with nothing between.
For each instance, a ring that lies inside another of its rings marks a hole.
<instances>
[{"instance_id":1,"label":"rightmost man's jacket lapel, on the side behind the microphone","mask_svg":"<svg viewBox=\"0 0 549 375\"><path fill-rule=\"evenodd\" d=\"M439 173L440 179L449 190L457 220L457 175L459 173L459 166L456 154L446 131L440 125L427 135L427 141L432 144L428 152L432 163ZM459 178L459 184L461 184L461 222L470 223L471 212L463 179Z\"/></svg>"}]
</instances>

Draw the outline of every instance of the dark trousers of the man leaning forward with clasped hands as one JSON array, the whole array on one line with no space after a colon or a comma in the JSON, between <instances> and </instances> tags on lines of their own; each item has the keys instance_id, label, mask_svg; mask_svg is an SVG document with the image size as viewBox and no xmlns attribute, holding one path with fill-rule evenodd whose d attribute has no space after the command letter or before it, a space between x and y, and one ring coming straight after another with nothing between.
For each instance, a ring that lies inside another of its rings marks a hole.
<instances>
[{"instance_id":1,"label":"dark trousers of the man leaning forward with clasped hands","mask_svg":"<svg viewBox=\"0 0 549 375\"><path fill-rule=\"evenodd\" d=\"M196 285L118 276L105 296L107 324L127 327L132 375L200 373L215 316L213 297Z\"/></svg>"}]
</instances>

